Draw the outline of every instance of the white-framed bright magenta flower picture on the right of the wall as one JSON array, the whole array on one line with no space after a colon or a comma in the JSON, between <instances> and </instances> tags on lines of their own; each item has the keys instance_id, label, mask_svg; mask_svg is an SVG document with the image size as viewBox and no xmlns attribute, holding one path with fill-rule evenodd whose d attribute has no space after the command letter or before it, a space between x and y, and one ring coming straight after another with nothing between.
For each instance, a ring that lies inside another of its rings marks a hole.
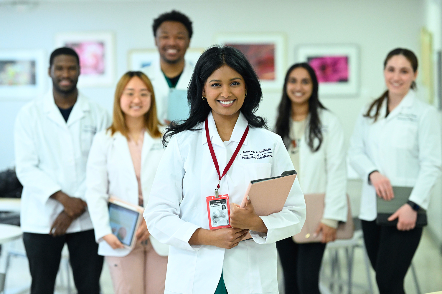
<instances>
[{"instance_id":1,"label":"white-framed bright magenta flower picture on the right of the wall","mask_svg":"<svg viewBox=\"0 0 442 294\"><path fill-rule=\"evenodd\" d=\"M297 61L307 62L316 72L320 95L356 95L359 92L357 45L301 45Z\"/></svg>"}]
</instances>

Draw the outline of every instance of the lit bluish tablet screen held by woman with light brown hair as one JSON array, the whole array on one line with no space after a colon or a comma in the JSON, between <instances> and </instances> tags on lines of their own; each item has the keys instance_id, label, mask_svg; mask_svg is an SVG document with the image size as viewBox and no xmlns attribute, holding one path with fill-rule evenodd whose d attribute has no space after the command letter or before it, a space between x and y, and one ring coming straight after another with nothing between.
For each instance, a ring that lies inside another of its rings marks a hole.
<instances>
[{"instance_id":1,"label":"lit bluish tablet screen held by woman with light brown hair","mask_svg":"<svg viewBox=\"0 0 442 294\"><path fill-rule=\"evenodd\" d=\"M139 212L109 203L109 222L112 234L124 245L130 246L137 226Z\"/></svg>"}]
</instances>

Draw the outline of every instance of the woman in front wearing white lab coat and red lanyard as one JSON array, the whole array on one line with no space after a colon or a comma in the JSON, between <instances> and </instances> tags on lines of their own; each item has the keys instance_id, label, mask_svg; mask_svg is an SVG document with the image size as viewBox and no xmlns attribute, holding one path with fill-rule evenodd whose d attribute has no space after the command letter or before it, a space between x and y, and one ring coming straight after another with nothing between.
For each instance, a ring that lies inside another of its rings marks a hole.
<instances>
[{"instance_id":1,"label":"woman in front wearing white lab coat and red lanyard","mask_svg":"<svg viewBox=\"0 0 442 294\"><path fill-rule=\"evenodd\" d=\"M281 212L257 216L250 200L238 205L251 180L293 170L281 137L255 115L261 99L236 48L214 46L199 58L190 117L168 127L144 214L149 232L171 245L166 294L278 293L275 242L301 230L305 201L296 179ZM229 195L231 228L209 230L206 197L216 194ZM248 231L252 238L240 242Z\"/></svg>"}]
</instances>

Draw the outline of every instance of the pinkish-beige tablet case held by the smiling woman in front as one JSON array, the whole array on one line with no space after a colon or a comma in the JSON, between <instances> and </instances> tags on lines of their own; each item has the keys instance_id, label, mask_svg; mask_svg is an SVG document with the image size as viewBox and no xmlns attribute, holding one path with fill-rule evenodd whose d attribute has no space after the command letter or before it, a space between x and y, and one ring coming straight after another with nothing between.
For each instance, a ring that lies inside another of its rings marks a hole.
<instances>
[{"instance_id":1,"label":"pinkish-beige tablet case held by the smiling woman in front","mask_svg":"<svg viewBox=\"0 0 442 294\"><path fill-rule=\"evenodd\" d=\"M263 182L255 182L253 184L250 183L244 195L241 207L244 207L246 197L248 196L258 216L269 216L272 213L280 212L286 203L295 179L296 174L265 180ZM247 234L241 241L250 238L251 235Z\"/></svg>"}]
</instances>

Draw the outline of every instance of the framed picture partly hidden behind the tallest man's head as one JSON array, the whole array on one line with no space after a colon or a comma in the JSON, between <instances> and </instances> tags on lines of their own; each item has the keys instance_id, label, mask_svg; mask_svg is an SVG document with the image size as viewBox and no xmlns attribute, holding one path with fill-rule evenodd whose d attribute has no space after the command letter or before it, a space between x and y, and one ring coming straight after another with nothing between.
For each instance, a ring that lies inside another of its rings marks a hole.
<instances>
[{"instance_id":1,"label":"framed picture partly hidden behind the tallest man's head","mask_svg":"<svg viewBox=\"0 0 442 294\"><path fill-rule=\"evenodd\" d=\"M184 59L195 66L203 51L203 48L188 48ZM143 67L148 67L152 62L159 59L160 53L157 49L133 49L128 54L127 68L129 71L141 71Z\"/></svg>"}]
</instances>

